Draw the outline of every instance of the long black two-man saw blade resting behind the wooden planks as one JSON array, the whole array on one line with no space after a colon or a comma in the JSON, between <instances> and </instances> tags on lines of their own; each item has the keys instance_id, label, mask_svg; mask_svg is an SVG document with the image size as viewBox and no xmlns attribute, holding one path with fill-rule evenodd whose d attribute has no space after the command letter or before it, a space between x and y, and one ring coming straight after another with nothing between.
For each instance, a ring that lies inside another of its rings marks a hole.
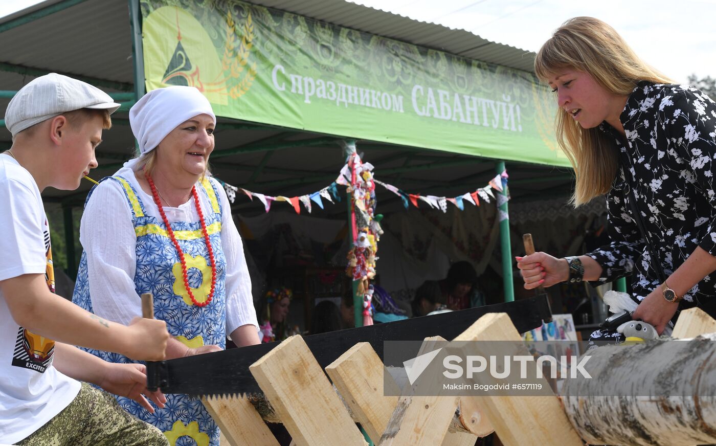
<instances>
[{"instance_id":1,"label":"long black two-man saw blade resting behind the wooden planks","mask_svg":"<svg viewBox=\"0 0 716 446\"><path fill-rule=\"evenodd\" d=\"M306 345L325 369L358 342L369 342L383 359L384 341L422 341L428 336L453 339L488 313L507 313L521 333L552 320L546 296L448 311L402 321L305 336ZM165 394L227 395L261 392L248 367L280 342L147 364L147 387Z\"/></svg>"}]
</instances>

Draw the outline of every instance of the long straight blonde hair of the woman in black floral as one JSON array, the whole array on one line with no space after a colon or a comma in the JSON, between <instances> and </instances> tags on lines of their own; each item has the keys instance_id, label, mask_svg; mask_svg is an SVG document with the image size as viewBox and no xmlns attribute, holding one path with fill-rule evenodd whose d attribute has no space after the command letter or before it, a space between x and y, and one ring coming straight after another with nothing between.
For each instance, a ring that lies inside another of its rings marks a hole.
<instances>
[{"instance_id":1,"label":"long straight blonde hair of the woman in black floral","mask_svg":"<svg viewBox=\"0 0 716 446\"><path fill-rule=\"evenodd\" d=\"M629 96L640 81L673 81L644 63L608 24L594 17L565 21L535 58L535 74L546 82L558 69L586 72L612 94ZM609 192L619 167L614 142L599 128L584 129L561 107L555 120L559 147L576 175L571 203L583 205Z\"/></svg>"}]
</instances>

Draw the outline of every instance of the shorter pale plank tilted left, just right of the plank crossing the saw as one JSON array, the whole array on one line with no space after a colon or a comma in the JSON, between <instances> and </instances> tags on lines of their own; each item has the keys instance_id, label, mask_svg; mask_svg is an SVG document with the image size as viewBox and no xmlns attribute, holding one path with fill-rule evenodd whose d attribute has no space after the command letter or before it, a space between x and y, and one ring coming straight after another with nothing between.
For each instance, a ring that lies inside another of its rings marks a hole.
<instances>
[{"instance_id":1,"label":"shorter pale plank tilted left, just right of the plank crossing the saw","mask_svg":"<svg viewBox=\"0 0 716 446\"><path fill-rule=\"evenodd\" d=\"M326 373L351 409L353 419L373 442L378 442L398 397L385 396L384 365L373 347L368 342L355 344L329 364Z\"/></svg>"}]
</instances>

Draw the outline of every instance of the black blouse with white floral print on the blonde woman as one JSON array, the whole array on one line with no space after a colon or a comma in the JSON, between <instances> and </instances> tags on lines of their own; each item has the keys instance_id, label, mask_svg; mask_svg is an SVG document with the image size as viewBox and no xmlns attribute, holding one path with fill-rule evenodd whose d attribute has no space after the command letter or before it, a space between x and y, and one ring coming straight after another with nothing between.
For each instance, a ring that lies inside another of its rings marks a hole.
<instances>
[{"instance_id":1,"label":"black blouse with white floral print on the blonde woman","mask_svg":"<svg viewBox=\"0 0 716 446\"><path fill-rule=\"evenodd\" d=\"M716 256L716 104L693 87L640 82L619 118L626 139L606 122L600 127L620 152L606 195L612 242L587 255L604 268L600 282L632 275L640 301L662 282L650 252L666 277L697 246ZM632 218L634 197L651 250ZM695 305L716 316L716 273L679 309Z\"/></svg>"}]
</instances>

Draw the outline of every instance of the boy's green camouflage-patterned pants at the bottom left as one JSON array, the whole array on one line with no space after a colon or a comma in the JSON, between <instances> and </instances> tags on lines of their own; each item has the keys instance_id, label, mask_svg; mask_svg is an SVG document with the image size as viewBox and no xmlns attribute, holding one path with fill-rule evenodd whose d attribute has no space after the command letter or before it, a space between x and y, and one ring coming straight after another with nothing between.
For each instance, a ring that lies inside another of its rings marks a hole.
<instances>
[{"instance_id":1,"label":"boy's green camouflage-patterned pants at the bottom left","mask_svg":"<svg viewBox=\"0 0 716 446\"><path fill-rule=\"evenodd\" d=\"M74 400L21 446L168 446L164 434L122 409L112 395L82 383Z\"/></svg>"}]
</instances>

